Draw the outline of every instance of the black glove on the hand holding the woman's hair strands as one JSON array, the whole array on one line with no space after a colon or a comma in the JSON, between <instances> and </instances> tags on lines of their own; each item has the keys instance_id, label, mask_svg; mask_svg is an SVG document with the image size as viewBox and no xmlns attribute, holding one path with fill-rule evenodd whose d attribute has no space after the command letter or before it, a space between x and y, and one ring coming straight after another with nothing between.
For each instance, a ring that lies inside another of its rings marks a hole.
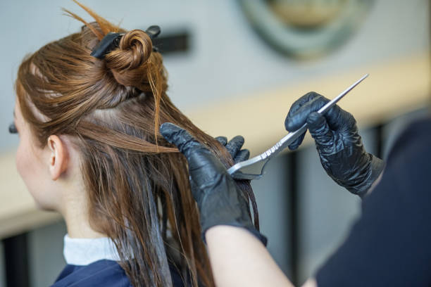
<instances>
[{"instance_id":1,"label":"black glove on the hand holding the woman's hair strands","mask_svg":"<svg viewBox=\"0 0 431 287\"><path fill-rule=\"evenodd\" d=\"M265 236L254 228L251 221L249 203L241 196L223 163L185 129L166 122L161 125L160 132L187 159L203 238L210 227L231 225L249 230L266 245Z\"/></svg>"}]
</instances>

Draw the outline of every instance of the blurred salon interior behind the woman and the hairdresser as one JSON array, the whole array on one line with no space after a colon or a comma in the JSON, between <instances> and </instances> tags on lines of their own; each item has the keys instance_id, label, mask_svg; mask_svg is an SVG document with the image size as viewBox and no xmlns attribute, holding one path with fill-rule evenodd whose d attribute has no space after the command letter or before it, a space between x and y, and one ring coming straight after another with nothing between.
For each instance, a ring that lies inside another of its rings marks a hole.
<instances>
[{"instance_id":1,"label":"blurred salon interior behind the woman and the hairdresser","mask_svg":"<svg viewBox=\"0 0 431 287\"><path fill-rule=\"evenodd\" d=\"M160 25L156 45L169 96L212 136L242 134L252 155L286 134L290 105L308 91L335 97L370 77L340 106L356 117L369 152L385 158L394 138L430 104L427 0L82 0L127 30ZM13 82L21 60L80 30L69 0L0 1L0 287L49 286L65 262L65 225L42 212L15 170ZM303 283L342 243L361 200L327 177L309 137L252 183L268 249Z\"/></svg>"}]
</instances>

